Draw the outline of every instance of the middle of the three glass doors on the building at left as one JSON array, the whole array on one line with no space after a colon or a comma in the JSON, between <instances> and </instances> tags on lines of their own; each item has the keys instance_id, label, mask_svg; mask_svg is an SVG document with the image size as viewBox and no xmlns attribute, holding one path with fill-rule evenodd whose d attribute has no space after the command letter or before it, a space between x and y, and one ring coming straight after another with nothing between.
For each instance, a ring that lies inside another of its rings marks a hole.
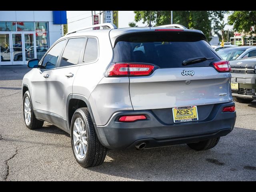
<instances>
[{"instance_id":1,"label":"middle of the three glass doors on the building at left","mask_svg":"<svg viewBox=\"0 0 256 192\"><path fill-rule=\"evenodd\" d=\"M26 56L25 49L23 45L23 35L22 33L11 33L11 61L13 65L25 64Z\"/></svg>"}]
</instances>

